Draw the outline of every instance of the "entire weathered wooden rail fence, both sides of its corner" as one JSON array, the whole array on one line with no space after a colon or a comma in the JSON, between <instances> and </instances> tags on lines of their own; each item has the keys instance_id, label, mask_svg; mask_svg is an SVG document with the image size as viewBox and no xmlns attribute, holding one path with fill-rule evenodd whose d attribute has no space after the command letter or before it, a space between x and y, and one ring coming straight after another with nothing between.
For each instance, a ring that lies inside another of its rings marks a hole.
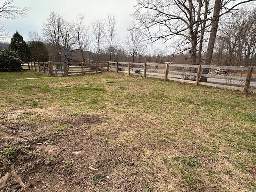
<instances>
[{"instance_id":1,"label":"entire weathered wooden rail fence, both sides of its corner","mask_svg":"<svg viewBox=\"0 0 256 192\"><path fill-rule=\"evenodd\" d=\"M26 70L49 75L86 74L98 71L116 71L142 77L163 78L195 85L256 92L256 67L205 66L190 64L156 64L130 62L28 62ZM207 73L203 73L207 70ZM218 71L219 73L215 73ZM207 82L200 82L207 78Z\"/></svg>"}]
</instances>

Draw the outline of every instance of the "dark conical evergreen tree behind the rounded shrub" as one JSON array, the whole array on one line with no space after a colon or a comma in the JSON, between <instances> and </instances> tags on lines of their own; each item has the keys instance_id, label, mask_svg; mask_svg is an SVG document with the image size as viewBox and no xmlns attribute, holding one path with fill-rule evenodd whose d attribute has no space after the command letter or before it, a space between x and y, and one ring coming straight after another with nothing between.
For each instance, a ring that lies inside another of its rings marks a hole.
<instances>
[{"instance_id":1,"label":"dark conical evergreen tree behind the rounded shrub","mask_svg":"<svg viewBox=\"0 0 256 192\"><path fill-rule=\"evenodd\" d=\"M16 31L11 38L9 50L18 52L18 55L23 62L30 61L30 49L18 31Z\"/></svg>"}]
</instances>

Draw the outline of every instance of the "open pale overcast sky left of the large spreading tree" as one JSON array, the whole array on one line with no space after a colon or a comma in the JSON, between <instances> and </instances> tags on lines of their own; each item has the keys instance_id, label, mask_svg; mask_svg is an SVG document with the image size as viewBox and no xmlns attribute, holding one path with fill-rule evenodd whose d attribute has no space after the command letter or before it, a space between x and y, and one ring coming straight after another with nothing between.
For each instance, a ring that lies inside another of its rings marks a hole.
<instances>
[{"instance_id":1,"label":"open pale overcast sky left of the large spreading tree","mask_svg":"<svg viewBox=\"0 0 256 192\"><path fill-rule=\"evenodd\" d=\"M1 4L2 2L3 0L0 1ZM108 14L114 14L118 20L117 33L124 40L126 29L133 21L130 14L134 12L136 0L14 0L13 4L22 8L30 7L30 14L26 18L2 19L4 29L10 36L17 30L25 41L28 40L29 31L41 34L42 24L46 22L51 11L63 16L66 21L75 20L79 13L85 14L86 26L89 26L93 19L104 19Z\"/></svg>"}]
</instances>

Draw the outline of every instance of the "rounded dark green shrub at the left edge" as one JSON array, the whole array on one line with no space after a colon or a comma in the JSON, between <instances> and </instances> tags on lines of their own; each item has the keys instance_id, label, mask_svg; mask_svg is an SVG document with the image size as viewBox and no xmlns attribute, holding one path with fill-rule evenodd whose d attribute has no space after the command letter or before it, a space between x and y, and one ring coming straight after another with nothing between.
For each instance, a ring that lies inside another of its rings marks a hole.
<instances>
[{"instance_id":1,"label":"rounded dark green shrub at the left edge","mask_svg":"<svg viewBox=\"0 0 256 192\"><path fill-rule=\"evenodd\" d=\"M0 71L21 71L22 61L17 52L0 50Z\"/></svg>"}]
</instances>

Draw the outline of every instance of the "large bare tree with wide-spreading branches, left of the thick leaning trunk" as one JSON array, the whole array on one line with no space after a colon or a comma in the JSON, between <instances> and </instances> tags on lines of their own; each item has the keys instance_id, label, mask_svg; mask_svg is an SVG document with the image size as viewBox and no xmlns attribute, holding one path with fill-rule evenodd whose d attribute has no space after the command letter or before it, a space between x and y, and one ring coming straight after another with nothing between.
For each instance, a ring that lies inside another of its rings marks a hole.
<instances>
[{"instance_id":1,"label":"large bare tree with wide-spreading branches, left of the thick leaning trunk","mask_svg":"<svg viewBox=\"0 0 256 192\"><path fill-rule=\"evenodd\" d=\"M203 42L210 26L211 5L210 0L137 0L133 17L139 29L147 30L148 39L175 40L177 53L190 50L191 63L196 64L199 37Z\"/></svg>"}]
</instances>

